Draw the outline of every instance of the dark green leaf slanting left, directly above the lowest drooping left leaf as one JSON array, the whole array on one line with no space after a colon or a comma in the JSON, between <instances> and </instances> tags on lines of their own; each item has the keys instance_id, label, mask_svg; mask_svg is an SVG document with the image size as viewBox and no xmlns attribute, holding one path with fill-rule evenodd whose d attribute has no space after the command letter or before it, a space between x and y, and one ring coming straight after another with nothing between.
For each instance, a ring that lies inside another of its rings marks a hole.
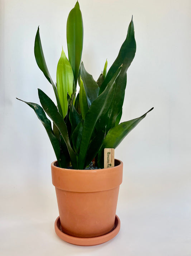
<instances>
[{"instance_id":1,"label":"dark green leaf slanting left, directly above the lowest drooping left leaf","mask_svg":"<svg viewBox=\"0 0 191 256\"><path fill-rule=\"evenodd\" d=\"M57 126L58 130L60 131L60 133L67 145L67 149L70 154L73 168L77 169L76 155L70 145L67 126L66 126L65 121L63 120L63 117L58 112L57 107L54 104L54 102L40 89L38 89L38 96L39 96L40 103L42 104L44 111L48 114L48 116L55 123L55 125Z\"/></svg>"}]
</instances>

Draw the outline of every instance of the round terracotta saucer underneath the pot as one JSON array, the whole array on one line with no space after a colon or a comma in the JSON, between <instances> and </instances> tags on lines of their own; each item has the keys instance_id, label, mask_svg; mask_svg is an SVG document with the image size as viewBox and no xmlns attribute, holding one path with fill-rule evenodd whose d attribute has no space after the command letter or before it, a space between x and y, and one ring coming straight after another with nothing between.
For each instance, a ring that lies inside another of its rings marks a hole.
<instances>
[{"instance_id":1,"label":"round terracotta saucer underneath the pot","mask_svg":"<svg viewBox=\"0 0 191 256\"><path fill-rule=\"evenodd\" d=\"M119 230L120 230L120 219L117 215L115 215L115 224L114 224L113 230L106 235L101 235L100 237L81 238L81 237L72 237L71 235L67 235L63 233L59 216L57 217L54 223L54 229L58 237L68 243L72 243L80 246L92 246L92 245L105 243L110 239L114 238L119 233Z\"/></svg>"}]
</instances>

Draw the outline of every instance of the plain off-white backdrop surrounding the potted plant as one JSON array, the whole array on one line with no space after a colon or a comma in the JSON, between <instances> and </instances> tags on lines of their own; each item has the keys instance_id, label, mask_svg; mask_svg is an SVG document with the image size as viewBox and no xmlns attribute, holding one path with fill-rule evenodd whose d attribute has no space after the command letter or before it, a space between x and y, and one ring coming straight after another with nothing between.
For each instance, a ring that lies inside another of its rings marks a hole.
<instances>
[{"instance_id":1,"label":"plain off-white backdrop surrounding the potted plant","mask_svg":"<svg viewBox=\"0 0 191 256\"><path fill-rule=\"evenodd\" d=\"M53 80L75 1L0 1L0 255L191 255L191 2L80 0L82 61L95 80L114 62L133 14L137 52L128 69L122 121L143 121L115 157L124 162L121 230L94 247L63 242L50 164L55 160L34 111L37 88L54 99L34 58L38 26Z\"/></svg>"}]
</instances>

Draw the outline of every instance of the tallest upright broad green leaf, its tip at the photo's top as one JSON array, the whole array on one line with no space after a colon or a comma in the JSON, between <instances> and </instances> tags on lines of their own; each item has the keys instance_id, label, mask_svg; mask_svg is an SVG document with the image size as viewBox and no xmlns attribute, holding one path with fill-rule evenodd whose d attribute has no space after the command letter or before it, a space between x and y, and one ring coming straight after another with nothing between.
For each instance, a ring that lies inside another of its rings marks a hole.
<instances>
[{"instance_id":1,"label":"tallest upright broad green leaf, its tip at the photo's top","mask_svg":"<svg viewBox=\"0 0 191 256\"><path fill-rule=\"evenodd\" d=\"M71 63L75 84L77 85L83 48L83 21L80 5L76 2L67 19L68 59Z\"/></svg>"}]
</instances>

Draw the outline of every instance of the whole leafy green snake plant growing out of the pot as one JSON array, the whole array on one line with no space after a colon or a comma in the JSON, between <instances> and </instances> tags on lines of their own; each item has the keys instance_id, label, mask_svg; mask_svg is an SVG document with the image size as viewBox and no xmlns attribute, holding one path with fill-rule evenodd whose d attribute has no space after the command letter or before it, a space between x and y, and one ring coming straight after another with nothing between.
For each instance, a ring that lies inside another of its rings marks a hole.
<instances>
[{"instance_id":1,"label":"whole leafy green snake plant growing out of the pot","mask_svg":"<svg viewBox=\"0 0 191 256\"><path fill-rule=\"evenodd\" d=\"M104 148L116 148L153 109L138 118L120 123L126 72L136 51L133 18L117 58L108 72L106 60L97 81L81 62L83 21L78 1L67 19L67 48L68 59L62 49L55 84L44 59L38 27L34 55L38 67L53 87L57 105L40 89L38 96L42 107L24 102L34 109L44 125L59 167L72 165L73 169L84 169L95 158L96 165L103 168ZM80 87L78 93L77 84Z\"/></svg>"}]
</instances>

